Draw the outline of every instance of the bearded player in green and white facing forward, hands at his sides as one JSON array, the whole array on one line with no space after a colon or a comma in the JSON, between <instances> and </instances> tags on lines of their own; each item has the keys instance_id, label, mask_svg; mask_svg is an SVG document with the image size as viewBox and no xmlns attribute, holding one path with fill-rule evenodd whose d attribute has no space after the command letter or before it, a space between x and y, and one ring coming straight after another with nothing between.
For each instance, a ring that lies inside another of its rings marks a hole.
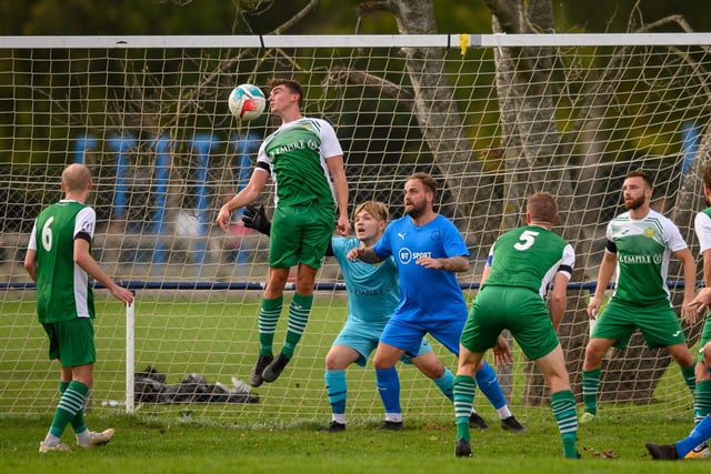
<instances>
[{"instance_id":1,"label":"bearded player in green and white facing forward, hands at his sides","mask_svg":"<svg viewBox=\"0 0 711 474\"><path fill-rule=\"evenodd\" d=\"M689 389L694 390L694 363L681 324L674 312L667 273L671 254L684 269L682 316L690 323L697 315L688 306L695 285L695 262L677 225L650 209L652 181L642 171L629 173L622 184L627 212L608 224L604 256L598 273L598 286L588 305L588 315L597 323L585 347L582 367L582 397L585 412L580 421L598 414L602 357L611 346L624 349L639 327L649 347L667 347L680 365ZM617 272L614 293L602 314L598 310L605 289Z\"/></svg>"}]
</instances>

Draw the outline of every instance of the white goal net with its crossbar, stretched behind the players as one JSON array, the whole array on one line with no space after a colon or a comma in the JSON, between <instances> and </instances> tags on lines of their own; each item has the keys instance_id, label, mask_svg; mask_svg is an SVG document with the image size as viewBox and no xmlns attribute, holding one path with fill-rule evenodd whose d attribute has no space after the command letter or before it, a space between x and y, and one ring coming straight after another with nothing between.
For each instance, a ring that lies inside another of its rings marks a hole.
<instances>
[{"instance_id":1,"label":"white goal net with its crossbar, stretched behind the players","mask_svg":"<svg viewBox=\"0 0 711 474\"><path fill-rule=\"evenodd\" d=\"M56 404L59 367L48 360L22 260L33 219L61 196L62 168L83 162L94 177L94 256L137 295L127 342L126 309L97 290L91 409L120 411L134 400L143 413L328 421L324 356L347 313L338 264L327 258L319 271L309 326L286 373L250 390L268 240L244 228L240 212L229 232L214 224L278 125L268 113L236 120L227 98L239 83L263 87L272 77L301 82L306 114L334 125L351 210L375 199L398 218L405 178L437 179L438 210L470 248L470 271L460 275L468 300L494 239L523 223L525 198L538 190L558 198L555 230L577 251L560 336L580 397L584 309L625 173L652 175L654 208L698 254L710 46L711 34L663 33L0 38L0 411L49 413ZM260 203L271 214L268 191ZM672 264L677 309L680 279ZM684 331L695 344L700 324ZM455 371L455 357L430 342ZM513 351L517 362L500 377L524 417L548 392ZM156 373L132 392L133 372L149 367ZM405 420L452 415L429 380L409 365L399 371ZM379 418L372 364L347 376L349 421ZM630 403L679 413L692 402L678 367L639 334L607 355L600 397L610 414ZM475 406L495 416L481 394Z\"/></svg>"}]
</instances>

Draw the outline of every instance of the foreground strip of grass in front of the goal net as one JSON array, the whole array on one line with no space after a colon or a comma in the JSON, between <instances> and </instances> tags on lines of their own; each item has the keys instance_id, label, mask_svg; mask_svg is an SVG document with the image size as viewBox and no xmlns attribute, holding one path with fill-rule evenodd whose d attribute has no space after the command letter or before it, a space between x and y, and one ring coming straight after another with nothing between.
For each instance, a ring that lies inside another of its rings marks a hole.
<instances>
[{"instance_id":1,"label":"foreground strip of grass in front of the goal net","mask_svg":"<svg viewBox=\"0 0 711 474\"><path fill-rule=\"evenodd\" d=\"M659 462L644 442L684 436L689 420L635 413L582 425L582 458L563 460L558 430L545 407L530 412L528 433L497 424L472 431L474 455L453 456L455 431L448 420L411 418L402 432L380 432L377 421L349 424L343 433L322 432L322 422L224 423L190 417L87 416L94 430L117 428L108 445L70 453L38 453L48 416L0 416L0 472L47 473L71 470L113 473L685 473L709 461ZM73 446L71 432L63 441ZM63 467L60 467L63 466Z\"/></svg>"}]
</instances>

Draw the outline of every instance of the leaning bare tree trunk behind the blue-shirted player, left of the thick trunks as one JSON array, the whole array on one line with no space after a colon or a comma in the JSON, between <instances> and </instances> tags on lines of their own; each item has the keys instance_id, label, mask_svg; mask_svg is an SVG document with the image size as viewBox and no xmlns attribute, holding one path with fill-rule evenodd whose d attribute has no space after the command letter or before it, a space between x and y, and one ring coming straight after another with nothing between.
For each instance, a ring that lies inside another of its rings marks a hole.
<instances>
[{"instance_id":1,"label":"leaning bare tree trunk behind the blue-shirted player, left of the thick trunks","mask_svg":"<svg viewBox=\"0 0 711 474\"><path fill-rule=\"evenodd\" d=\"M431 0L389 0L364 2L359 6L359 19L374 11L391 12L401 34L431 34L437 32ZM360 24L360 20L359 20ZM411 91L402 91L394 84L372 78L367 71L336 70L327 79L327 85L360 83L378 88L397 98L407 98L439 172L444 177L451 202L442 203L454 209L454 221L464 230L467 240L475 245L493 242L495 233L488 229L497 225L472 225L487 215L498 215L491 208L493 179L483 172L472 144L464 133L463 119L453 100L454 91L444 72L444 51L437 48L402 48L405 67L412 84ZM477 185L467 184L472 177Z\"/></svg>"}]
</instances>

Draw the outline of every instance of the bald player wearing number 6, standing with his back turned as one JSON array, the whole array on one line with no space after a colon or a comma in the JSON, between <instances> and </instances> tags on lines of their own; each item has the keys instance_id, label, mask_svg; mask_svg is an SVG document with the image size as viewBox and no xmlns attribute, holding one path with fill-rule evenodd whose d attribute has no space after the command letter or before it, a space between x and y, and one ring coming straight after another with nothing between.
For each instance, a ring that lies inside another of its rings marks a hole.
<instances>
[{"instance_id":1,"label":"bald player wearing number 6, standing with his back turned","mask_svg":"<svg viewBox=\"0 0 711 474\"><path fill-rule=\"evenodd\" d=\"M89 278L127 304L132 303L133 295L116 284L91 256L96 213L86 204L91 185L91 174L84 165L74 163L64 169L64 199L37 218L24 255L24 269L37 283L37 313L49 337L49 356L61 364L61 396L52 425L40 443L40 453L70 451L60 441L68 424L80 447L106 444L114 433L113 428L89 431L83 418L97 359Z\"/></svg>"}]
</instances>

